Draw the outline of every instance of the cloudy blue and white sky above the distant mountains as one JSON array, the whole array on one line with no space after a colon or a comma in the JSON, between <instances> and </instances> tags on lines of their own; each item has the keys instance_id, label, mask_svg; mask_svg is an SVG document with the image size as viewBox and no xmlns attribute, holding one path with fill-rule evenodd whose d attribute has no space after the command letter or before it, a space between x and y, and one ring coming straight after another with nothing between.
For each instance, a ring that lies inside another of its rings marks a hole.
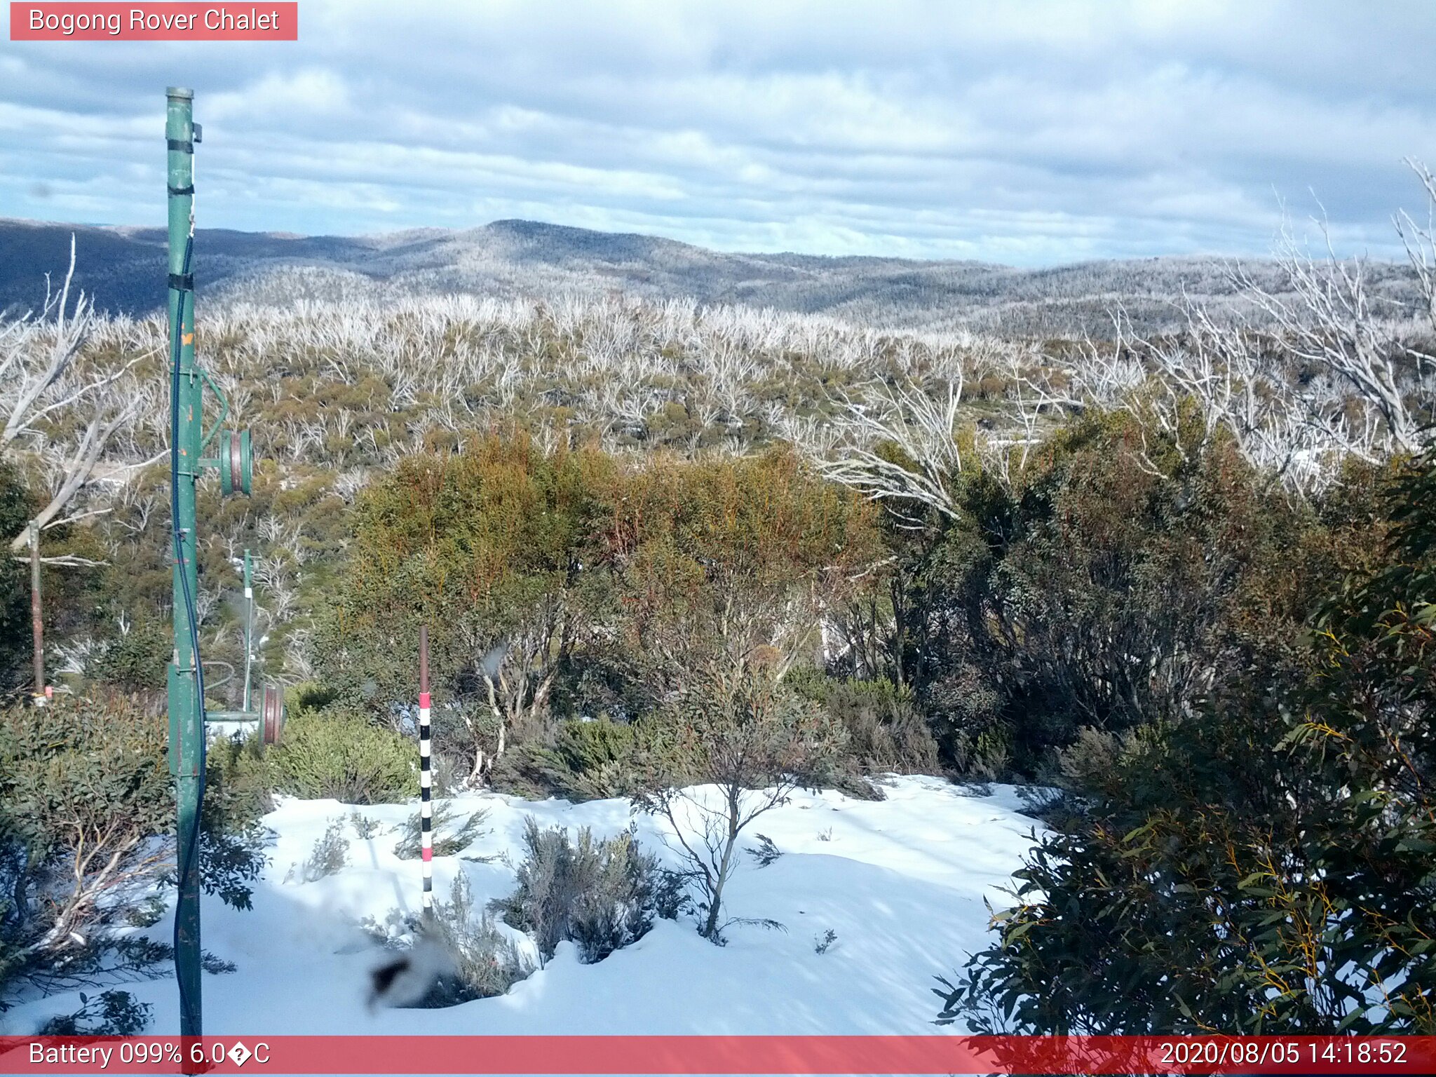
<instances>
[{"instance_id":1,"label":"cloudy blue and white sky above the distant mountains","mask_svg":"<svg viewBox=\"0 0 1436 1077\"><path fill-rule=\"evenodd\" d=\"M260 4L263 7L263 4ZM1397 256L1436 165L1436 3L302 0L293 43L0 40L0 217L521 217L715 250L1050 266L1259 256L1287 214Z\"/></svg>"}]
</instances>

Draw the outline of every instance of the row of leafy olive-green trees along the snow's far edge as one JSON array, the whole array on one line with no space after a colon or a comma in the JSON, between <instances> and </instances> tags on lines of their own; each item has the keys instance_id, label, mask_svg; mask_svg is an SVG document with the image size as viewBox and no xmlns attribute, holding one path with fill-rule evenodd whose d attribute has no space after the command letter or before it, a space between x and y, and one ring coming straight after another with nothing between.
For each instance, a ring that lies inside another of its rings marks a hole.
<instances>
[{"instance_id":1,"label":"row of leafy olive-green trees along the snow's far edge","mask_svg":"<svg viewBox=\"0 0 1436 1077\"><path fill-rule=\"evenodd\" d=\"M1015 478L952 475L955 516L898 517L781 448L474 438L359 497L312 691L402 727L428 623L457 778L583 794L553 755L567 724L770 678L850 719L854 773L1061 784L1099 742L1294 661L1327 583L1377 556L1377 471L1314 503L1229 442L1186 460L1139 439L1132 416L1093 414Z\"/></svg>"}]
</instances>

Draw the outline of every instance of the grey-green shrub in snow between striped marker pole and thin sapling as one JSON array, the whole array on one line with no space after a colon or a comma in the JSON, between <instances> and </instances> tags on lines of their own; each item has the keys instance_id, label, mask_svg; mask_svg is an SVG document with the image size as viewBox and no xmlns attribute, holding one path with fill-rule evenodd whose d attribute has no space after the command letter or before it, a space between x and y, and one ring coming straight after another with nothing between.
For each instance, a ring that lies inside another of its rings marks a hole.
<instances>
[{"instance_id":1,"label":"grey-green shrub in snow between striped marker pole and thin sapling","mask_svg":"<svg viewBox=\"0 0 1436 1077\"><path fill-rule=\"evenodd\" d=\"M547 961L563 939L579 946L584 962L643 938L653 916L676 916L676 883L642 853L628 833L596 841L587 827L570 841L566 830L524 824L527 854L511 895L490 908L527 931Z\"/></svg>"}]
</instances>

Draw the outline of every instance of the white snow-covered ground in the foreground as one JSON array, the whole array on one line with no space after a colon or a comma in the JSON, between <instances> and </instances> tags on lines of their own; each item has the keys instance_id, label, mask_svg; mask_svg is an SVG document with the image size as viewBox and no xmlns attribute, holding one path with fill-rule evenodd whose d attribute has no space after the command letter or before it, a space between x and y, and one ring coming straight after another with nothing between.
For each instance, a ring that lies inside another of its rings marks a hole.
<instances>
[{"instance_id":1,"label":"white snow-covered ground in the foreground","mask_svg":"<svg viewBox=\"0 0 1436 1077\"><path fill-rule=\"evenodd\" d=\"M985 945L982 900L1011 900L1001 887L1040 827L1021 814L1014 788L989 788L979 796L941 778L886 778L885 801L798 793L761 816L741 844L757 846L758 831L783 856L767 867L742 857L725 893L727 913L774 919L785 932L732 926L719 948L699 938L691 918L658 920L643 939L595 965L561 943L553 961L500 998L373 1014L365 1007L368 969L386 952L359 923L419 909L419 862L393 854L393 827L415 806L358 808L383 824L381 833L360 840L346 824L348 866L306 883L296 880L297 864L332 820L355 808L289 800L264 820L277 840L253 910L204 899L204 948L237 966L204 976L204 1028L270 1035L942 1032L932 1024L939 1008L933 976L951 975ZM474 794L449 803L460 817L480 808L488 817L462 853L435 860L439 900L457 872L468 875L475 906L507 895L514 869L477 859L507 853L520 863L526 816L544 826L589 826L599 836L635 821L642 846L676 863L656 820L635 819L623 800ZM836 941L816 952L829 931ZM148 933L168 942L169 920ZM172 978L121 987L154 1007L146 1031L178 1031ZM47 1017L76 1008L76 995L36 999L4 1015L6 1031L33 1032Z\"/></svg>"}]
</instances>

